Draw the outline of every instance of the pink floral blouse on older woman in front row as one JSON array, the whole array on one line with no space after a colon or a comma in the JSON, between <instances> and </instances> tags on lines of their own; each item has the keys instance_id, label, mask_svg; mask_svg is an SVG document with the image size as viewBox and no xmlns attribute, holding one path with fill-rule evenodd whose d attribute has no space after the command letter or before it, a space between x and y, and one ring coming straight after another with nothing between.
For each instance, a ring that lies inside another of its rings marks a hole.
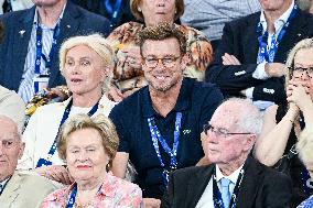
<instances>
[{"instance_id":1,"label":"pink floral blouse on older woman in front row","mask_svg":"<svg viewBox=\"0 0 313 208\"><path fill-rule=\"evenodd\" d=\"M74 184L50 194L40 208L66 208ZM88 208L140 208L143 207L139 186L108 173L101 189Z\"/></svg>"}]
</instances>

